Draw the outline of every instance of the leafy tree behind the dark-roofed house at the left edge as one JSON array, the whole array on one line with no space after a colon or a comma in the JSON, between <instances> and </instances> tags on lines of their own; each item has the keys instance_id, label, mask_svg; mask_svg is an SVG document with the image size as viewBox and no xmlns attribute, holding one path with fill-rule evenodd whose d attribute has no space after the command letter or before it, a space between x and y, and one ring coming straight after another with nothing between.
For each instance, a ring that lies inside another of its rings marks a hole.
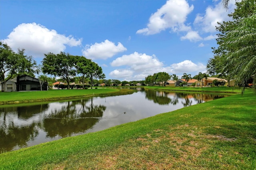
<instances>
[{"instance_id":1,"label":"leafy tree behind the dark-roofed house at the left edge","mask_svg":"<svg viewBox=\"0 0 256 170\"><path fill-rule=\"evenodd\" d=\"M25 49L14 52L6 43L0 42L0 81L6 82L17 75L30 75L34 77L36 61L32 56L25 55Z\"/></svg>"}]
</instances>

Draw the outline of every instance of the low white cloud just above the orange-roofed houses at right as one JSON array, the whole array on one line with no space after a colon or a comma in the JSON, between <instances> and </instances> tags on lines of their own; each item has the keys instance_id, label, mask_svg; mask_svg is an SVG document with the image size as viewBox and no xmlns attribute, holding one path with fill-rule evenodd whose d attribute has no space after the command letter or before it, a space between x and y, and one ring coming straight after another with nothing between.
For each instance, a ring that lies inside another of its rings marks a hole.
<instances>
[{"instance_id":1,"label":"low white cloud just above the orange-roofed houses at right","mask_svg":"<svg viewBox=\"0 0 256 170\"><path fill-rule=\"evenodd\" d=\"M184 60L180 63L171 65L171 72L174 74L205 72L206 66L202 63L195 64L190 60Z\"/></svg>"}]
</instances>

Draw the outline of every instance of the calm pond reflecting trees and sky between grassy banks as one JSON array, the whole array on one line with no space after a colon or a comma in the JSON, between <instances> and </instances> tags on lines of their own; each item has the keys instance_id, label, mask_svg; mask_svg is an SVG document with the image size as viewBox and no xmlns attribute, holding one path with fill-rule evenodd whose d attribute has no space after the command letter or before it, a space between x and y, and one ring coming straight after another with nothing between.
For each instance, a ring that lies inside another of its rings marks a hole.
<instances>
[{"instance_id":1,"label":"calm pond reflecting trees and sky between grassy banks","mask_svg":"<svg viewBox=\"0 0 256 170\"><path fill-rule=\"evenodd\" d=\"M137 89L129 95L0 107L0 153L96 132L228 95Z\"/></svg>"}]
</instances>

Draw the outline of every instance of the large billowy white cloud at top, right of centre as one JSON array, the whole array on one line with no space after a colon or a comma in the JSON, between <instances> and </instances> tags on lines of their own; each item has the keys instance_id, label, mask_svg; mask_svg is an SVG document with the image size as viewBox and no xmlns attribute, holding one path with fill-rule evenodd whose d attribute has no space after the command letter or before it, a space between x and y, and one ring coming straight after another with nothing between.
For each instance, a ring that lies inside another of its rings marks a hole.
<instances>
[{"instance_id":1,"label":"large billowy white cloud at top, right of centre","mask_svg":"<svg viewBox=\"0 0 256 170\"><path fill-rule=\"evenodd\" d=\"M152 14L146 28L138 30L137 34L157 34L167 28L172 31L188 30L184 25L187 15L192 12L194 6L189 6L186 0L168 0L160 9Z\"/></svg>"}]
</instances>

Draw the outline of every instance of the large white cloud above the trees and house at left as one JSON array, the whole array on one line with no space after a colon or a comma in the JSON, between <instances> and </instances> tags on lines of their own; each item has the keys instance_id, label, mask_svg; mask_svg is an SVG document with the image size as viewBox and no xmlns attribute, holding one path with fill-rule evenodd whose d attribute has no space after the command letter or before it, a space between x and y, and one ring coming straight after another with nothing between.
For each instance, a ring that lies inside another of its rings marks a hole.
<instances>
[{"instance_id":1,"label":"large white cloud above the trees and house at left","mask_svg":"<svg viewBox=\"0 0 256 170\"><path fill-rule=\"evenodd\" d=\"M13 50L24 48L33 57L43 57L48 52L59 53L66 49L66 45L73 47L81 45L82 42L82 39L66 37L36 23L20 24L7 37L2 41Z\"/></svg>"}]
</instances>

